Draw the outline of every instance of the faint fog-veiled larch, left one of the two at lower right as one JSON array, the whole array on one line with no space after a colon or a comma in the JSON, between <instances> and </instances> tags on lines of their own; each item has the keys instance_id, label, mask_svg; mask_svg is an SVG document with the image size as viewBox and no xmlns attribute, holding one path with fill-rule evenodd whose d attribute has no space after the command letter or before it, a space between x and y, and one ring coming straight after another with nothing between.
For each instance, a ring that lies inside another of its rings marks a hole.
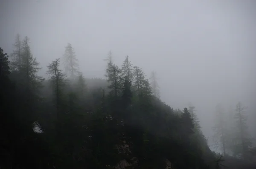
<instances>
[{"instance_id":1,"label":"faint fog-veiled larch, left one of the two at lower right","mask_svg":"<svg viewBox=\"0 0 256 169\"><path fill-rule=\"evenodd\" d=\"M224 117L224 108L221 104L218 104L216 107L216 124L213 127L215 131L214 141L219 148L221 149L223 154L226 155L227 148L227 127L225 125L225 117Z\"/></svg>"}]
</instances>

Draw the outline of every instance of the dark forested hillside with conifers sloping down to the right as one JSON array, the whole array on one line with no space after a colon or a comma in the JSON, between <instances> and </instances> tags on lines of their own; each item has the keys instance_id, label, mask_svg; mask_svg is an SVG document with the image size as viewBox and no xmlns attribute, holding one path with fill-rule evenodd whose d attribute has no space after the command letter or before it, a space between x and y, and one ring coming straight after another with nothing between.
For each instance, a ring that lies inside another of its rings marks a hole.
<instances>
[{"instance_id":1,"label":"dark forested hillside with conifers sloping down to the right","mask_svg":"<svg viewBox=\"0 0 256 169\"><path fill-rule=\"evenodd\" d=\"M128 56L119 67L109 53L107 81L79 72L71 44L46 79L28 37L17 35L10 56L0 49L1 169L253 169L252 154L212 152L194 107L163 103L154 73L147 79Z\"/></svg>"}]
</instances>

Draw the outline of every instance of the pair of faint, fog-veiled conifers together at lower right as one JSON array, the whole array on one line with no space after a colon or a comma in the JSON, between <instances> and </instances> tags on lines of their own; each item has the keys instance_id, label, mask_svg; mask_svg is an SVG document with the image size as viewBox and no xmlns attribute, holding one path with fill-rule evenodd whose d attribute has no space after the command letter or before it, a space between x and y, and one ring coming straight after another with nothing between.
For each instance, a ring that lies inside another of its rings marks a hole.
<instances>
[{"instance_id":1,"label":"pair of faint, fog-veiled conifers together at lower right","mask_svg":"<svg viewBox=\"0 0 256 169\"><path fill-rule=\"evenodd\" d=\"M246 107L241 102L226 112L224 106L216 106L216 123L214 126L214 140L216 147L224 155L233 155L237 158L251 158L253 138L248 132ZM253 159L251 159L253 160Z\"/></svg>"}]
</instances>

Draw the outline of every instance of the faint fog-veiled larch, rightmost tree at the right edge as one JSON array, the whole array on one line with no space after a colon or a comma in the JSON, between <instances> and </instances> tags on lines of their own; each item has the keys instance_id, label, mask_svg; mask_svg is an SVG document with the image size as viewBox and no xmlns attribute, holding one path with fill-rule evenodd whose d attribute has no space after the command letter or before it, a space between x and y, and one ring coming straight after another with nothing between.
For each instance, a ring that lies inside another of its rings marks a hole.
<instances>
[{"instance_id":1,"label":"faint fog-veiled larch, rightmost tree at the right edge","mask_svg":"<svg viewBox=\"0 0 256 169\"><path fill-rule=\"evenodd\" d=\"M241 102L236 104L236 113L234 115L236 122L236 136L237 144L234 148L237 149L236 154L241 154L242 158L245 159L251 147L250 136L247 131L245 109Z\"/></svg>"}]
</instances>

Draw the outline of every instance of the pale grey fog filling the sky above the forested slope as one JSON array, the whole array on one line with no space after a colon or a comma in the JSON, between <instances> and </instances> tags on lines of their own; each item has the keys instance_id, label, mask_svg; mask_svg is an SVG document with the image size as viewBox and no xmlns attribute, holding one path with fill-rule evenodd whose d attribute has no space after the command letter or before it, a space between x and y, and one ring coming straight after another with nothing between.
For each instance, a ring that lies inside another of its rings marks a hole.
<instances>
[{"instance_id":1,"label":"pale grey fog filling the sky above the forested slope","mask_svg":"<svg viewBox=\"0 0 256 169\"><path fill-rule=\"evenodd\" d=\"M1 0L0 46L10 54L15 35L28 36L41 75L67 43L89 78L105 78L110 50L119 66L128 55L148 77L157 72L161 100L196 107L211 145L217 103L247 106L256 138L255 7L231 0Z\"/></svg>"}]
</instances>

